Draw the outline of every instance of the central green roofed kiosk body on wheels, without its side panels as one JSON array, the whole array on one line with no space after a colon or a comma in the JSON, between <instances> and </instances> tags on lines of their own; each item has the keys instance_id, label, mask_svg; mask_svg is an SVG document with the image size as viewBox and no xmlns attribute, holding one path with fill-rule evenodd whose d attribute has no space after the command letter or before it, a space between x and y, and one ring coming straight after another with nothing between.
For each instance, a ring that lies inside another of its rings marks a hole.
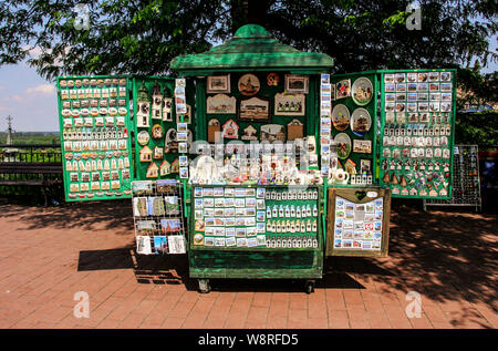
<instances>
[{"instance_id":1,"label":"central green roofed kiosk body on wheels, without its side panels","mask_svg":"<svg viewBox=\"0 0 498 351\"><path fill-rule=\"evenodd\" d=\"M196 85L188 249L201 291L209 278L307 279L311 291L322 277L315 101L332 64L251 24L172 62Z\"/></svg>"}]
</instances>

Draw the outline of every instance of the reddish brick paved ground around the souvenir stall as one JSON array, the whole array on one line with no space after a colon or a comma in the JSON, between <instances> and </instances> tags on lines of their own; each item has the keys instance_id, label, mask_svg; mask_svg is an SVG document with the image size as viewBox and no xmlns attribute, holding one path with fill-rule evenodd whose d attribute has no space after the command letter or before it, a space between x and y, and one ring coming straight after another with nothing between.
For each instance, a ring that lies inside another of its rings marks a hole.
<instances>
[{"instance_id":1,"label":"reddish brick paved ground around the souvenir stall","mask_svg":"<svg viewBox=\"0 0 498 351\"><path fill-rule=\"evenodd\" d=\"M397 205L390 257L326 260L323 280L216 280L134 255L128 202L0 206L0 328L496 328L497 218ZM74 293L90 296L76 319ZM422 296L407 318L406 293Z\"/></svg>"}]
</instances>

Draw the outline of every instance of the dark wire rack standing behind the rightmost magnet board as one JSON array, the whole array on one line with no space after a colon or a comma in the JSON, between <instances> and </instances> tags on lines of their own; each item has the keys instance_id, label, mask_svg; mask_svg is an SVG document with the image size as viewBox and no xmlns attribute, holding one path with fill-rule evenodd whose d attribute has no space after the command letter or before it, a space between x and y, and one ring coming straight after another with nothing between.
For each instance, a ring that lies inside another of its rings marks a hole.
<instances>
[{"instance_id":1,"label":"dark wire rack standing behind the rightmost magnet board","mask_svg":"<svg viewBox=\"0 0 498 351\"><path fill-rule=\"evenodd\" d=\"M453 164L453 196L450 199L424 199L427 206L475 206L481 208L477 145L455 145Z\"/></svg>"}]
</instances>

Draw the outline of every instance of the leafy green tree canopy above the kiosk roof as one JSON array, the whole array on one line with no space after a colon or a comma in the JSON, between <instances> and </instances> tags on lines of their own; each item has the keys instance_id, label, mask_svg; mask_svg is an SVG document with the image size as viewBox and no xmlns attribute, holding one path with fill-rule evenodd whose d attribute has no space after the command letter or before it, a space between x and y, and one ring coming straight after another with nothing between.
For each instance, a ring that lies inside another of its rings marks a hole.
<instances>
[{"instance_id":1,"label":"leafy green tree canopy above the kiosk roof","mask_svg":"<svg viewBox=\"0 0 498 351\"><path fill-rule=\"evenodd\" d=\"M208 50L243 24L283 43L334 58L338 73L374 69L460 68L497 60L494 0L419 0L421 30L408 30L400 0L82 0L0 2L0 65L28 60L38 72L165 74L173 58ZM30 55L37 52L38 55ZM474 70L475 71L475 70Z\"/></svg>"}]
</instances>

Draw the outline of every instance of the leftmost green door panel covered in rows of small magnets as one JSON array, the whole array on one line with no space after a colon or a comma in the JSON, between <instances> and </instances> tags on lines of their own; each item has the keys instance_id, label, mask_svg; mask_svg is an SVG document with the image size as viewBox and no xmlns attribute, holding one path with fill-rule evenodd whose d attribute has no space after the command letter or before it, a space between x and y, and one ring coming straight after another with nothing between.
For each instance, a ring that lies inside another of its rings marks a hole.
<instances>
[{"instance_id":1,"label":"leftmost green door panel covered in rows of small magnets","mask_svg":"<svg viewBox=\"0 0 498 351\"><path fill-rule=\"evenodd\" d=\"M68 202L131 197L128 83L125 76L58 78Z\"/></svg>"}]
</instances>

